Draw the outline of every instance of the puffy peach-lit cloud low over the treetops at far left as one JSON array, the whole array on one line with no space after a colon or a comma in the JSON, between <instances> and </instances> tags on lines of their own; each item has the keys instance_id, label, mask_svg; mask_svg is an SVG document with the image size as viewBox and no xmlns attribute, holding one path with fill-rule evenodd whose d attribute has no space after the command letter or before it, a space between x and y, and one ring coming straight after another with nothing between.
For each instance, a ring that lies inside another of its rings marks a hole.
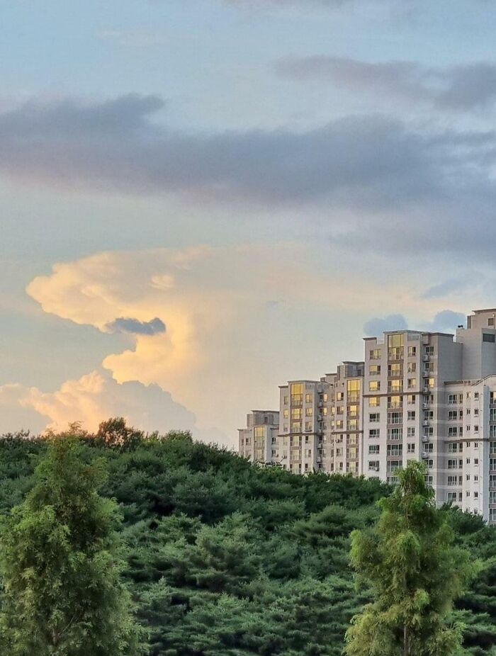
<instances>
[{"instance_id":1,"label":"puffy peach-lit cloud low over the treetops at far left","mask_svg":"<svg viewBox=\"0 0 496 656\"><path fill-rule=\"evenodd\" d=\"M118 385L108 373L93 371L79 380L67 380L55 392L42 392L23 385L0 386L0 407L9 409L16 429L23 425L33 427L33 413L38 414L34 429L44 427L61 430L71 422L83 422L94 431L108 417L123 416L130 424L145 431L195 429L196 417L184 406L175 402L169 392L158 385L145 386L128 382ZM1 420L1 431L14 427Z\"/></svg>"}]
</instances>

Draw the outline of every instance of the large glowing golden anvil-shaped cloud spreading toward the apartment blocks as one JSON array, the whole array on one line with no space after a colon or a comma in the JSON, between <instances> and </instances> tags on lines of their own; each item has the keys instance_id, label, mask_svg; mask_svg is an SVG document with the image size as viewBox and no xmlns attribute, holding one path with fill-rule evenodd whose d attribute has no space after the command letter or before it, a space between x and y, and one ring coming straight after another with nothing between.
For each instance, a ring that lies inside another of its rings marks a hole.
<instances>
[{"instance_id":1,"label":"large glowing golden anvil-shaped cloud spreading toward the apartment blocks","mask_svg":"<svg viewBox=\"0 0 496 656\"><path fill-rule=\"evenodd\" d=\"M108 353L103 368L118 383L159 385L195 412L202 435L205 427L220 426L234 439L247 407L275 402L281 381L295 371L320 374L329 332L322 328L317 336L316 324L332 324L335 312L349 310L350 298L361 312L373 312L378 303L407 295L398 280L381 293L357 276L344 264L315 271L315 251L300 243L163 248L55 264L28 285L28 294L45 312L104 333L115 317L167 319L166 332L130 334L130 346ZM311 368L301 349L309 339ZM288 353L295 354L291 368ZM336 361L344 357L340 352Z\"/></svg>"}]
</instances>

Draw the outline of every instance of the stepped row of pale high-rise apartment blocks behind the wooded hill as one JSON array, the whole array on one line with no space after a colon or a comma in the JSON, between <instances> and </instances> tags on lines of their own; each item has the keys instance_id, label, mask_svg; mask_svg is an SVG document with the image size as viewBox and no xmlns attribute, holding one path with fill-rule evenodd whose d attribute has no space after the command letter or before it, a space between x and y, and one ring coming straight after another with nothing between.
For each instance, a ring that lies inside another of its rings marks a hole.
<instances>
[{"instance_id":1,"label":"stepped row of pale high-rise apartment blocks behind the wooded hill","mask_svg":"<svg viewBox=\"0 0 496 656\"><path fill-rule=\"evenodd\" d=\"M454 336L399 330L364 338L363 362L281 385L280 412L267 413L270 436L261 422L255 448L253 420L239 431L239 452L295 473L393 484L409 460L422 460L438 504L496 521L495 319L496 309L475 310Z\"/></svg>"}]
</instances>

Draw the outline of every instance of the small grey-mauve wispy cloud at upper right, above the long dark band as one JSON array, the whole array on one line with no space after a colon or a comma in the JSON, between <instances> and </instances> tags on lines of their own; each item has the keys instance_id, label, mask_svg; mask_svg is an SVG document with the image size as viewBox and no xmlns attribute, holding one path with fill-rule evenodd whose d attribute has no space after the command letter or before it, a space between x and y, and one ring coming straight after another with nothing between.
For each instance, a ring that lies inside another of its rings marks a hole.
<instances>
[{"instance_id":1,"label":"small grey-mauve wispy cloud at upper right, above the long dark band","mask_svg":"<svg viewBox=\"0 0 496 656\"><path fill-rule=\"evenodd\" d=\"M496 101L496 64L474 62L427 67L415 62L363 62L349 57L287 57L276 64L281 77L297 81L328 81L358 94L408 105L423 103L456 112L492 106Z\"/></svg>"}]
</instances>

